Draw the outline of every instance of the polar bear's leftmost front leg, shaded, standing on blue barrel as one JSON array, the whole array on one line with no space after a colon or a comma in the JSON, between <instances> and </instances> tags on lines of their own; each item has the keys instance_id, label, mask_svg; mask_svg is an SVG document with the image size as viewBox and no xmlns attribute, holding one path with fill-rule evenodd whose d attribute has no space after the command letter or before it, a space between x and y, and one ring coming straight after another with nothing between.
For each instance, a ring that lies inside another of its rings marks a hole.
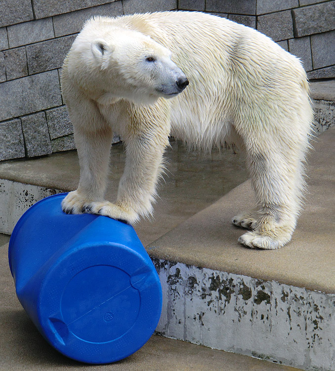
<instances>
[{"instance_id":1,"label":"polar bear's leftmost front leg, shaded, standing on blue barrel","mask_svg":"<svg viewBox=\"0 0 335 371\"><path fill-rule=\"evenodd\" d=\"M78 189L62 202L68 214L82 214L90 202L103 201L113 132L96 104L63 84L80 163Z\"/></svg>"}]
</instances>

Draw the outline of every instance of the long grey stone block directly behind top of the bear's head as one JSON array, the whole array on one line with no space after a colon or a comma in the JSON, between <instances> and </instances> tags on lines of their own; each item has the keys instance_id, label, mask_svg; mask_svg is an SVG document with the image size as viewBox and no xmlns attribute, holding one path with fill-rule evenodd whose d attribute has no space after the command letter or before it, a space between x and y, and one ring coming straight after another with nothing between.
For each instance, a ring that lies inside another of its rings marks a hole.
<instances>
[{"instance_id":1,"label":"long grey stone block directly behind top of the bear's head","mask_svg":"<svg viewBox=\"0 0 335 371\"><path fill-rule=\"evenodd\" d=\"M53 17L55 36L64 36L80 32L84 21L93 15L115 17L123 14L122 2L115 1L109 4L94 6L87 9L60 14Z\"/></svg>"}]
</instances>

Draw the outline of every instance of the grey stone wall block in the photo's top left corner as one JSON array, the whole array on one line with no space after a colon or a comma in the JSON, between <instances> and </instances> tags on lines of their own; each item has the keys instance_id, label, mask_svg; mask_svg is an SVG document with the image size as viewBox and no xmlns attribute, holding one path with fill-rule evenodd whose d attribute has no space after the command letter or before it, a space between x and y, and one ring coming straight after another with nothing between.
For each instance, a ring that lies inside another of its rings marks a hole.
<instances>
[{"instance_id":1,"label":"grey stone wall block in the photo's top left corner","mask_svg":"<svg viewBox=\"0 0 335 371\"><path fill-rule=\"evenodd\" d=\"M0 27L34 19L31 0L1 0Z\"/></svg>"}]
</instances>

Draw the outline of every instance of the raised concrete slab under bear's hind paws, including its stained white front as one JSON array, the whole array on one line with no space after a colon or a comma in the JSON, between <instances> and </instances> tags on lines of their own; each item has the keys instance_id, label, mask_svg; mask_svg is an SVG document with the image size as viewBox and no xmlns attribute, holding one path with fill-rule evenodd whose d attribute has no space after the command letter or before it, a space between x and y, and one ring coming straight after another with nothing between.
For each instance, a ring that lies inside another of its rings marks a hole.
<instances>
[{"instance_id":1,"label":"raised concrete slab under bear's hind paws, including its stained white front","mask_svg":"<svg viewBox=\"0 0 335 371\"><path fill-rule=\"evenodd\" d=\"M165 336L301 368L335 370L335 128L310 154L306 205L279 250L237 242L249 181L148 246L163 286Z\"/></svg>"}]
</instances>

